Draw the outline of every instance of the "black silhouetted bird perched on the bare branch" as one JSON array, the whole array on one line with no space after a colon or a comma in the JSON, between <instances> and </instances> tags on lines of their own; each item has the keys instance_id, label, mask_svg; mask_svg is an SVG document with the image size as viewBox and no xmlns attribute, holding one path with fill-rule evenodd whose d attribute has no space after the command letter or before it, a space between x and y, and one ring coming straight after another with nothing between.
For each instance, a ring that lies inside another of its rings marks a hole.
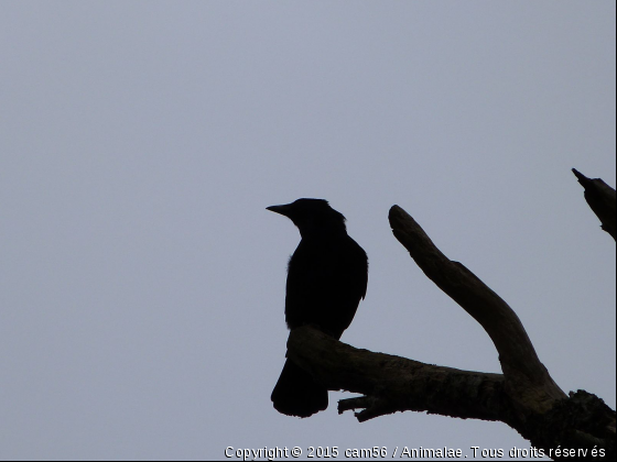
<instances>
[{"instance_id":1,"label":"black silhouetted bird perched on the bare branch","mask_svg":"<svg viewBox=\"0 0 617 462\"><path fill-rule=\"evenodd\" d=\"M301 235L288 264L288 328L311 324L340 339L366 296L366 252L347 234L345 217L327 200L302 198L267 210L288 217ZM271 400L279 413L304 418L327 408L328 392L288 359Z\"/></svg>"}]
</instances>

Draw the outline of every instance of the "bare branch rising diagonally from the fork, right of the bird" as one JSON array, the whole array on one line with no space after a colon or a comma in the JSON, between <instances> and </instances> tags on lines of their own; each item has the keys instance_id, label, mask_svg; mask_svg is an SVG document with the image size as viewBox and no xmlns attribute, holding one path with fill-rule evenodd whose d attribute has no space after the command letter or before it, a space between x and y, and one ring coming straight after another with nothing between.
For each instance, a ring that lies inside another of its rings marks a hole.
<instances>
[{"instance_id":1,"label":"bare branch rising diagonally from the fork, right of the bird","mask_svg":"<svg viewBox=\"0 0 617 462\"><path fill-rule=\"evenodd\" d=\"M486 330L499 353L508 393L519 395L519 402L535 403L537 410L565 397L508 304L462 263L448 260L402 208L393 206L389 220L394 237L424 274Z\"/></svg>"}]
</instances>

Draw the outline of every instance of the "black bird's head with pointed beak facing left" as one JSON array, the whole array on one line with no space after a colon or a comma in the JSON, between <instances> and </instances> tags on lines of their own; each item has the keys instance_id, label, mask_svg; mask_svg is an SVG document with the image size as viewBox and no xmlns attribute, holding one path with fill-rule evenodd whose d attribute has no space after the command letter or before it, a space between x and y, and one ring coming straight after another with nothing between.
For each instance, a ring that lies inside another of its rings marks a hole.
<instances>
[{"instance_id":1,"label":"black bird's head with pointed beak facing left","mask_svg":"<svg viewBox=\"0 0 617 462\"><path fill-rule=\"evenodd\" d=\"M324 199L297 199L268 210L288 217L300 230L302 238L346 232L345 217Z\"/></svg>"}]
</instances>

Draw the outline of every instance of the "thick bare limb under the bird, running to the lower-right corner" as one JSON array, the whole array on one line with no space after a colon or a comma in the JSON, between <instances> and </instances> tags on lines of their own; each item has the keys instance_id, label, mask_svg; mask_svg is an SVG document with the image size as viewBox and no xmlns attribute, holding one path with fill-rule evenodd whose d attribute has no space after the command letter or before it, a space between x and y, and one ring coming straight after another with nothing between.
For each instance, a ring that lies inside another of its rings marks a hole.
<instances>
[{"instance_id":1,"label":"thick bare limb under the bird, running to the lower-right corner","mask_svg":"<svg viewBox=\"0 0 617 462\"><path fill-rule=\"evenodd\" d=\"M339 413L362 409L356 414L360 422L405 410L500 420L548 455L555 448L585 448L587 457L593 449L602 449L605 457L600 459L615 458L615 411L585 392L555 400L545 413L521 415L500 374L441 367L356 349L310 326L290 333L288 358L329 389L364 394L338 403Z\"/></svg>"}]
</instances>

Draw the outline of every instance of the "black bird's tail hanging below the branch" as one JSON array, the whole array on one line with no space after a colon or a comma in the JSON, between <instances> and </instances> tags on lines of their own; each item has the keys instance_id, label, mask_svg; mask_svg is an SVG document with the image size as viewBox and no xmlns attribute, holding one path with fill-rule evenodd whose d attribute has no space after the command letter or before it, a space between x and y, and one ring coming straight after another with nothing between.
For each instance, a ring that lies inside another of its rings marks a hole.
<instances>
[{"instance_id":1,"label":"black bird's tail hanging below the branch","mask_svg":"<svg viewBox=\"0 0 617 462\"><path fill-rule=\"evenodd\" d=\"M270 399L281 414L308 417L327 408L327 388L288 360Z\"/></svg>"}]
</instances>

